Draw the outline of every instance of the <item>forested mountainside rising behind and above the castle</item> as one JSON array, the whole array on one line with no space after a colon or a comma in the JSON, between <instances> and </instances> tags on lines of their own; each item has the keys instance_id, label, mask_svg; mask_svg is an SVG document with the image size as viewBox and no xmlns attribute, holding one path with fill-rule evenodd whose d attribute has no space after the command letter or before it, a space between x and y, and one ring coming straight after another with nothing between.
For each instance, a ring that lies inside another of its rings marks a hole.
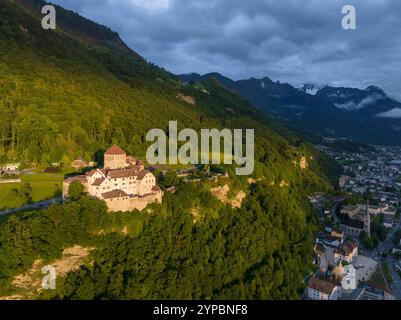
<instances>
[{"instance_id":1,"label":"forested mountainside rising behind and above the castle","mask_svg":"<svg viewBox=\"0 0 401 320\"><path fill-rule=\"evenodd\" d=\"M226 95L230 100L221 104L220 93L184 87L125 46L110 49L76 39L63 24L44 31L25 6L11 3L2 2L0 22L0 132L9 158L67 162L77 155L93 157L113 142L143 155L146 132L164 129L168 120L198 129L260 116L237 97ZM81 20L86 22L79 17L72 22ZM196 105L178 93L194 95Z\"/></svg>"}]
</instances>

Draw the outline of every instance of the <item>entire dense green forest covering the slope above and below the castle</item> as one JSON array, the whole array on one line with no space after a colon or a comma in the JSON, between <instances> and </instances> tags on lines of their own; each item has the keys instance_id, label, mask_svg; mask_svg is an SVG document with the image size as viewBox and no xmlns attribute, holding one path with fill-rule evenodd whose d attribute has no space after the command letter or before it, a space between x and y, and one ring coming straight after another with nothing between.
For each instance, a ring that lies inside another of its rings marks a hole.
<instances>
[{"instance_id":1,"label":"entire dense green forest covering the slope above and below the castle","mask_svg":"<svg viewBox=\"0 0 401 320\"><path fill-rule=\"evenodd\" d=\"M217 81L185 85L106 27L58 8L57 30L42 30L42 4L0 2L2 161L67 164L113 143L144 157L146 132L177 120L196 130L254 128L256 183L231 175L228 183L247 193L240 209L202 183L179 184L142 213L109 214L101 201L80 196L7 217L0 222L0 295L13 294L12 280L36 259L51 262L79 244L95 248L93 263L41 298L297 298L317 230L307 195L330 188L336 164Z\"/></svg>"}]
</instances>

